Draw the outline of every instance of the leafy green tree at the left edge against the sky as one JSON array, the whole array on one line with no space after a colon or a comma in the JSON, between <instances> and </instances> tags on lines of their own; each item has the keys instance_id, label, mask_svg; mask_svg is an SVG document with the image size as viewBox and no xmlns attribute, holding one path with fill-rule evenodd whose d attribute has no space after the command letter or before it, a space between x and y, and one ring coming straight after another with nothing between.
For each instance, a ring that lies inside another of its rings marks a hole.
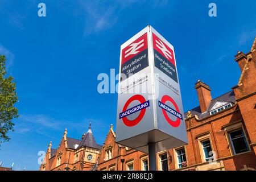
<instances>
[{"instance_id":1,"label":"leafy green tree at the left edge against the sky","mask_svg":"<svg viewBox=\"0 0 256 182\"><path fill-rule=\"evenodd\" d=\"M5 62L5 56L0 55L0 143L10 140L7 133L14 131L12 120L19 117L14 106L18 101L16 82L13 77L7 76Z\"/></svg>"}]
</instances>

